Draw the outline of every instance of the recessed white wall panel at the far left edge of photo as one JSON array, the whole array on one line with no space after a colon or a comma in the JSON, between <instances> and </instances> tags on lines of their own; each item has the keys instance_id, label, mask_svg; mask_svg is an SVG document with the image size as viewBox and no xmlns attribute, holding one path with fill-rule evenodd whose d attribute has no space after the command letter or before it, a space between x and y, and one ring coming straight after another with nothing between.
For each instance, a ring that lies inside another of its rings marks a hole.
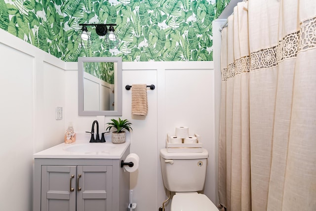
<instances>
[{"instance_id":1,"label":"recessed white wall panel at the far left edge of photo","mask_svg":"<svg viewBox=\"0 0 316 211\"><path fill-rule=\"evenodd\" d=\"M12 55L20 62L3 65ZM0 58L0 205L1 210L30 210L30 199L17 204L16 198L29 196L32 187L34 111L28 98L33 94L34 58L2 43Z\"/></svg>"}]
</instances>

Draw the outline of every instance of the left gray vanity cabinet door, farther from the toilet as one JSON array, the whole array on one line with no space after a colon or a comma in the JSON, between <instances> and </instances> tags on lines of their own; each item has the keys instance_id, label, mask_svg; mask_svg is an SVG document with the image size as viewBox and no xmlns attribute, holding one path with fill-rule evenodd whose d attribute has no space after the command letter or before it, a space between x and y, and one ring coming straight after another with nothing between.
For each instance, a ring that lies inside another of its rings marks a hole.
<instances>
[{"instance_id":1,"label":"left gray vanity cabinet door, farther from the toilet","mask_svg":"<svg viewBox=\"0 0 316 211\"><path fill-rule=\"evenodd\" d=\"M76 166L42 166L41 211L76 211ZM74 189L72 189L74 188Z\"/></svg>"}]
</instances>

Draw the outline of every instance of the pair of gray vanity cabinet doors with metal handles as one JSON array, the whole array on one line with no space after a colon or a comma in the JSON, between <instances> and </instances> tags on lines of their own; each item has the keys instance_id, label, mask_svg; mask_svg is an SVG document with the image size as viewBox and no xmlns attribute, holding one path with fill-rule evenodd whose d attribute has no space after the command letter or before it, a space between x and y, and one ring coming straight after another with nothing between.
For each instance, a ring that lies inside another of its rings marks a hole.
<instances>
[{"instance_id":1,"label":"pair of gray vanity cabinet doors with metal handles","mask_svg":"<svg viewBox=\"0 0 316 211\"><path fill-rule=\"evenodd\" d=\"M112 211L112 166L42 166L41 171L41 211Z\"/></svg>"}]
</instances>

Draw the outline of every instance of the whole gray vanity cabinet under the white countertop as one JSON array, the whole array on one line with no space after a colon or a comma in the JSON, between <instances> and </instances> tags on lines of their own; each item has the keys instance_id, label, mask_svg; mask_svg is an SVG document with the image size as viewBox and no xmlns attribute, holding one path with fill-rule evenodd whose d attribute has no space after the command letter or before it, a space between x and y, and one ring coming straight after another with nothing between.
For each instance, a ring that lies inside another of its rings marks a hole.
<instances>
[{"instance_id":1,"label":"whole gray vanity cabinet under the white countertop","mask_svg":"<svg viewBox=\"0 0 316 211\"><path fill-rule=\"evenodd\" d=\"M121 159L35 158L33 211L126 211L129 172Z\"/></svg>"}]
</instances>

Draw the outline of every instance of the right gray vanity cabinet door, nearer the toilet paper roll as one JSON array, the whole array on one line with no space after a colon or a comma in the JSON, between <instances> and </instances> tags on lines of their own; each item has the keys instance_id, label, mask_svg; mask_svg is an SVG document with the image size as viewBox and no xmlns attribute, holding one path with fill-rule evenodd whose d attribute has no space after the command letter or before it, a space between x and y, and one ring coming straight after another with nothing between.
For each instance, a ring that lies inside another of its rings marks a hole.
<instances>
[{"instance_id":1,"label":"right gray vanity cabinet door, nearer the toilet paper roll","mask_svg":"<svg viewBox=\"0 0 316 211\"><path fill-rule=\"evenodd\" d=\"M78 166L77 211L112 211L112 166Z\"/></svg>"}]
</instances>

